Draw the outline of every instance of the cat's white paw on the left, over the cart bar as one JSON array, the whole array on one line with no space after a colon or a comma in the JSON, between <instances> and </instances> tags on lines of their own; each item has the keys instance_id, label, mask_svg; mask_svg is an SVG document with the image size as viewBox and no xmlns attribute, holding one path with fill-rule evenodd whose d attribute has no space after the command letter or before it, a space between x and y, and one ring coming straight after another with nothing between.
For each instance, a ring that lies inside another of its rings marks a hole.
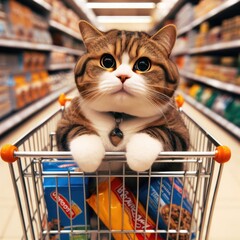
<instances>
[{"instance_id":1,"label":"cat's white paw on the left, over the cart bar","mask_svg":"<svg viewBox=\"0 0 240 240\"><path fill-rule=\"evenodd\" d=\"M105 154L102 140L97 135L82 135L70 143L73 159L84 172L95 172Z\"/></svg>"}]
</instances>

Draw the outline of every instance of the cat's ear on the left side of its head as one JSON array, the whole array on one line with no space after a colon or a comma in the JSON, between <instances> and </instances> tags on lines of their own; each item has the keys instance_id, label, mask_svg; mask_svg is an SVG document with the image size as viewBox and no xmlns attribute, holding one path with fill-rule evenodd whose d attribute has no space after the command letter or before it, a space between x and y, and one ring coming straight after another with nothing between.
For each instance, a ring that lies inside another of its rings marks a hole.
<instances>
[{"instance_id":1,"label":"cat's ear on the left side of its head","mask_svg":"<svg viewBox=\"0 0 240 240\"><path fill-rule=\"evenodd\" d=\"M103 33L101 31L84 20L81 20L79 22L79 29L86 48L88 48L94 39L103 36Z\"/></svg>"}]
</instances>

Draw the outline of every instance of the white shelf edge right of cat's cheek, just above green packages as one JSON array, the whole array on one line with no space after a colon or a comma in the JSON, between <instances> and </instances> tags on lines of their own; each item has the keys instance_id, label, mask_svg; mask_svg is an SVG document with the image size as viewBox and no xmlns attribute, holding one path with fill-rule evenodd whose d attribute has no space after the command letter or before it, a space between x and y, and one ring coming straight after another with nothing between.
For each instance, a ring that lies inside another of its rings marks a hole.
<instances>
[{"instance_id":1,"label":"white shelf edge right of cat's cheek, just above green packages","mask_svg":"<svg viewBox=\"0 0 240 240\"><path fill-rule=\"evenodd\" d=\"M230 93L240 94L240 86L230 84L230 83L224 83L219 80L208 78L208 77L199 76L194 73L187 72L185 70L180 70L179 73L182 77L190 78L191 80L204 83L206 85L217 88L219 90L224 90L224 91L228 91Z\"/></svg>"}]
</instances>

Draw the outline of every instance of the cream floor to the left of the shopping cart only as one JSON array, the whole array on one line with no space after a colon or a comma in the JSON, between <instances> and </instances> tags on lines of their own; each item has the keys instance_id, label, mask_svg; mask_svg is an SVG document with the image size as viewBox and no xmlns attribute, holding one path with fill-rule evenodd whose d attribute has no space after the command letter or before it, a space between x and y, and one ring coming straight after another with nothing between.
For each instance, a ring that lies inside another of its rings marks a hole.
<instances>
[{"instance_id":1,"label":"cream floor to the left of the shopping cart only","mask_svg":"<svg viewBox=\"0 0 240 240\"><path fill-rule=\"evenodd\" d=\"M13 143L21 138L31 128L33 128L39 121L49 116L56 111L58 103L48 106L46 109L40 111L38 114L29 118L21 126L16 127L9 135L0 139L0 147L5 143ZM0 177L0 239L4 240L19 240L22 236L21 225L19 222L18 209L13 192L12 182L8 165L0 161L1 177ZM4 191L3 191L4 189Z\"/></svg>"}]
</instances>

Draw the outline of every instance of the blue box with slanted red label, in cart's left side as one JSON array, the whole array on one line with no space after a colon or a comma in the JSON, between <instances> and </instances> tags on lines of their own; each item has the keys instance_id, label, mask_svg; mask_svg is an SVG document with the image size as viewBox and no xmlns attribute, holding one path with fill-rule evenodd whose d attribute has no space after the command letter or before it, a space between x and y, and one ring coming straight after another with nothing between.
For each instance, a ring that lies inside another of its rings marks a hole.
<instances>
[{"instance_id":1,"label":"blue box with slanted red label, in cart's left side","mask_svg":"<svg viewBox=\"0 0 240 240\"><path fill-rule=\"evenodd\" d=\"M43 181L48 210L48 226L53 226L52 230L58 230L58 226L61 230L85 231L89 228L88 208L85 202L85 197L88 197L88 178L54 176L56 172L74 172L76 168L78 166L69 161L43 162L43 174L49 172L53 174L45 176ZM63 233L59 239L87 240L90 239L90 236L86 234L70 236L69 233Z\"/></svg>"}]
</instances>

